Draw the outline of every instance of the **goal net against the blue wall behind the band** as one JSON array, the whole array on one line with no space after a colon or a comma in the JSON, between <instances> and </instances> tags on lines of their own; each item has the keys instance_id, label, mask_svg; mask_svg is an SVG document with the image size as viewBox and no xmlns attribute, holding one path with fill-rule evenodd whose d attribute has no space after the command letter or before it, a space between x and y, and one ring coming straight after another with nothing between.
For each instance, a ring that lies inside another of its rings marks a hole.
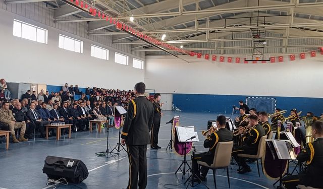
<instances>
[{"instance_id":1,"label":"goal net against the blue wall behind the band","mask_svg":"<svg viewBox=\"0 0 323 189\"><path fill-rule=\"evenodd\" d=\"M258 112L265 111L269 114L272 114L276 109L276 98L247 97L246 104L250 109L256 108Z\"/></svg>"}]
</instances>

